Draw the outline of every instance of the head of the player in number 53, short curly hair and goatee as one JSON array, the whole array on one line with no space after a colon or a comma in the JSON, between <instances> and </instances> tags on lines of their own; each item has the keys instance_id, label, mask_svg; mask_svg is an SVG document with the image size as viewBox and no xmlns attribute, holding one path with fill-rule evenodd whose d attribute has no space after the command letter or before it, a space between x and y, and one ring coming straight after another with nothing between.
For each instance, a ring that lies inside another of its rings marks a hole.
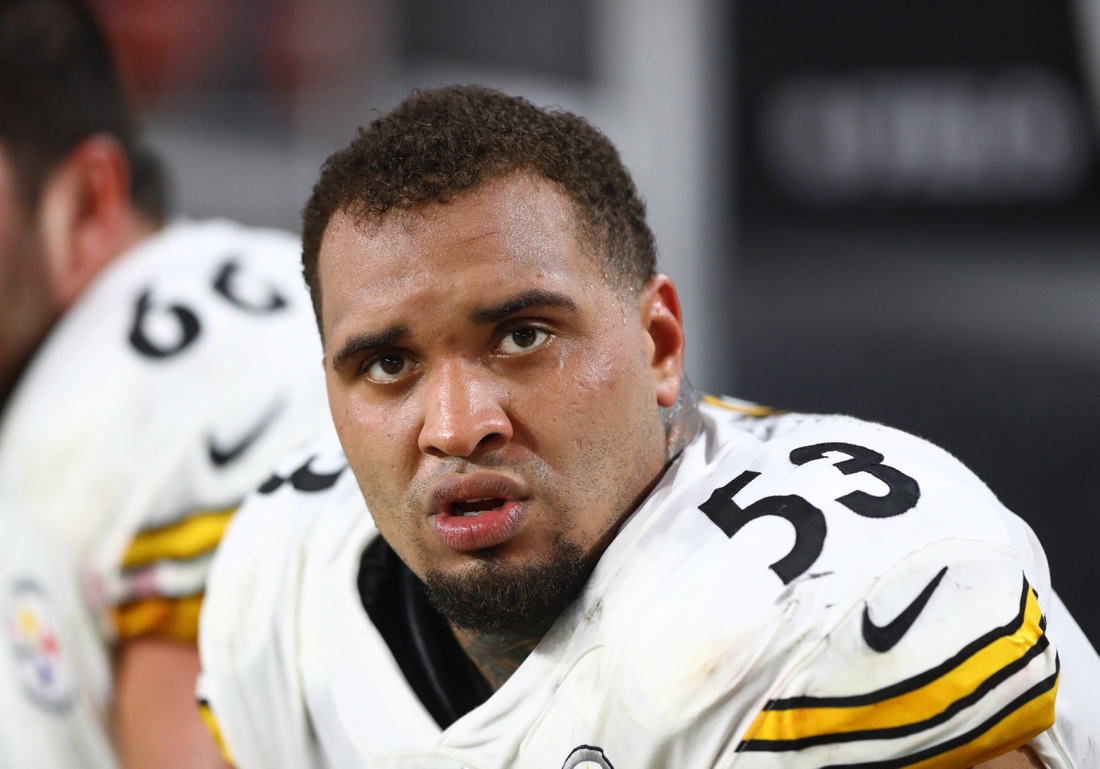
<instances>
[{"instance_id":1,"label":"head of the player in number 53, short curly hair and goatee","mask_svg":"<svg viewBox=\"0 0 1100 769\"><path fill-rule=\"evenodd\" d=\"M417 94L328 162L305 261L383 536L455 624L544 630L660 475L680 388L615 149L494 91Z\"/></svg>"}]
</instances>

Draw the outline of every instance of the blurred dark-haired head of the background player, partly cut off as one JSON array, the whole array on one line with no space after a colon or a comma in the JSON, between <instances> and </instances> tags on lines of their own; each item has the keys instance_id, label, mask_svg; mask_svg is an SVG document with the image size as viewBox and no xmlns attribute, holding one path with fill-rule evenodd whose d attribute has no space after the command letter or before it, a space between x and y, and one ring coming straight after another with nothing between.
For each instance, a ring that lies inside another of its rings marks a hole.
<instances>
[{"instance_id":1,"label":"blurred dark-haired head of the background player, partly cut off","mask_svg":"<svg viewBox=\"0 0 1100 769\"><path fill-rule=\"evenodd\" d=\"M165 216L103 35L76 0L0 3L0 404L61 311Z\"/></svg>"}]
</instances>

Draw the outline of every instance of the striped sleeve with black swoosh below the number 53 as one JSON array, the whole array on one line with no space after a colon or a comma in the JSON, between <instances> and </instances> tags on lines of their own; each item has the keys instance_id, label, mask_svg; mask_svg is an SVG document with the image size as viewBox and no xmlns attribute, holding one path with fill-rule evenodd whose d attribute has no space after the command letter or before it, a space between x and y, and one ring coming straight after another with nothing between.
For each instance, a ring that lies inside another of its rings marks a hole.
<instances>
[{"instance_id":1,"label":"striped sleeve with black swoosh below the number 53","mask_svg":"<svg viewBox=\"0 0 1100 769\"><path fill-rule=\"evenodd\" d=\"M1046 625L1010 548L924 548L779 679L732 766L948 769L1008 752L1055 722Z\"/></svg>"}]
</instances>

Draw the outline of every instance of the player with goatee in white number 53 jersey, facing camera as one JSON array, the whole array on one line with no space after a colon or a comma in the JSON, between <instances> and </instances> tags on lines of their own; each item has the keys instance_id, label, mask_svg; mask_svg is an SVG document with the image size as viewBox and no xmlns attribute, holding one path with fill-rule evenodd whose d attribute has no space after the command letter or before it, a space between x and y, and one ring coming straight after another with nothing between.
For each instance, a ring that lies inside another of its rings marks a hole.
<instances>
[{"instance_id":1,"label":"player with goatee in white number 53 jersey, facing camera","mask_svg":"<svg viewBox=\"0 0 1100 769\"><path fill-rule=\"evenodd\" d=\"M700 403L654 252L609 142L522 99L415 94L329 158L337 435L202 612L237 766L1096 766L1027 526L912 436Z\"/></svg>"}]
</instances>

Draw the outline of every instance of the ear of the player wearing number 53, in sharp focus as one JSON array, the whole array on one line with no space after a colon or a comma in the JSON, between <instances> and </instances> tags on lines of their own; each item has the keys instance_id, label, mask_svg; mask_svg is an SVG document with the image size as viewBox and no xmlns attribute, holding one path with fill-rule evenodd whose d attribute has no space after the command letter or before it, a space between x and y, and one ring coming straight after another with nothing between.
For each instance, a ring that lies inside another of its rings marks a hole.
<instances>
[{"instance_id":1,"label":"ear of the player wearing number 53, in sharp focus","mask_svg":"<svg viewBox=\"0 0 1100 769\"><path fill-rule=\"evenodd\" d=\"M657 388L657 403L664 407L675 404L683 375L684 331L676 287L667 275L654 275L641 294L642 327L649 367Z\"/></svg>"}]
</instances>

